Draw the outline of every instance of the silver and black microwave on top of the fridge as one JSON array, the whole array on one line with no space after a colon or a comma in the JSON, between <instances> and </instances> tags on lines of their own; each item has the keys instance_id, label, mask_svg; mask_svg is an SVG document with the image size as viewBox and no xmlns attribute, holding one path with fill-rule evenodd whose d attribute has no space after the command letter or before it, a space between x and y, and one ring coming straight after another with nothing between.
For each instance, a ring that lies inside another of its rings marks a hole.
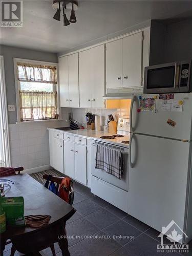
<instances>
[{"instance_id":1,"label":"silver and black microwave on top of the fridge","mask_svg":"<svg viewBox=\"0 0 192 256\"><path fill-rule=\"evenodd\" d=\"M191 60L145 67L143 92L190 92L191 74Z\"/></svg>"}]
</instances>

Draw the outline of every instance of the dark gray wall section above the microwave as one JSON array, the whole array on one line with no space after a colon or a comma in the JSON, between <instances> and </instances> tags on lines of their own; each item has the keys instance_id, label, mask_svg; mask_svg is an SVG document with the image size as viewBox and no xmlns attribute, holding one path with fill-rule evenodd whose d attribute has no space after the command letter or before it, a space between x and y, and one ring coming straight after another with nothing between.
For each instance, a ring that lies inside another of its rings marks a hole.
<instances>
[{"instance_id":1,"label":"dark gray wall section above the microwave","mask_svg":"<svg viewBox=\"0 0 192 256\"><path fill-rule=\"evenodd\" d=\"M150 65L192 59L192 19L172 24L152 20Z\"/></svg>"}]
</instances>

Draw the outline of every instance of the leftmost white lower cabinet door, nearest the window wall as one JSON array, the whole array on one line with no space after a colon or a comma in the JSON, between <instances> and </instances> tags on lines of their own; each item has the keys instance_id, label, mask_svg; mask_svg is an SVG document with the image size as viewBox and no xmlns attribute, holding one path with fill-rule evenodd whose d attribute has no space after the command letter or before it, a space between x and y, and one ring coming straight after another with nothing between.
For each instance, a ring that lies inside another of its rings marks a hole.
<instances>
[{"instance_id":1,"label":"leftmost white lower cabinet door, nearest the window wall","mask_svg":"<svg viewBox=\"0 0 192 256\"><path fill-rule=\"evenodd\" d=\"M63 169L63 140L53 138L52 148L52 167L60 173L64 173Z\"/></svg>"}]
</instances>

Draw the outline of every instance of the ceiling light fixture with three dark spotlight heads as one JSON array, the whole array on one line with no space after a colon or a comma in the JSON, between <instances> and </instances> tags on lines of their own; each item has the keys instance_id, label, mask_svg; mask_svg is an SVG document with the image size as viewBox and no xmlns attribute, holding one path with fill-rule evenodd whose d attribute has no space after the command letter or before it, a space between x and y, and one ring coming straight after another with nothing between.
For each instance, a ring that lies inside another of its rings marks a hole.
<instances>
[{"instance_id":1,"label":"ceiling light fixture with three dark spotlight heads","mask_svg":"<svg viewBox=\"0 0 192 256\"><path fill-rule=\"evenodd\" d=\"M78 9L77 1L63 1L63 0L54 0L53 9L56 10L54 19L60 21L60 12L61 8L63 9L63 26L68 26L70 23L76 23L77 19L75 16L75 11ZM67 18L66 12L71 11L70 20Z\"/></svg>"}]
</instances>

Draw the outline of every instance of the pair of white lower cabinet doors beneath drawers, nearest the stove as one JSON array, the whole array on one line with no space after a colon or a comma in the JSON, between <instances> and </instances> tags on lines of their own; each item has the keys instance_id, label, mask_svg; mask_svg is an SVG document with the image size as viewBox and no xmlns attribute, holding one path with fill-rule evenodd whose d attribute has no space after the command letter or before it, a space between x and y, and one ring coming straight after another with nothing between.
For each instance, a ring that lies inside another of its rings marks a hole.
<instances>
[{"instance_id":1,"label":"pair of white lower cabinet doors beneath drawers, nearest the stove","mask_svg":"<svg viewBox=\"0 0 192 256\"><path fill-rule=\"evenodd\" d=\"M65 174L87 185L87 146L64 141Z\"/></svg>"}]
</instances>

